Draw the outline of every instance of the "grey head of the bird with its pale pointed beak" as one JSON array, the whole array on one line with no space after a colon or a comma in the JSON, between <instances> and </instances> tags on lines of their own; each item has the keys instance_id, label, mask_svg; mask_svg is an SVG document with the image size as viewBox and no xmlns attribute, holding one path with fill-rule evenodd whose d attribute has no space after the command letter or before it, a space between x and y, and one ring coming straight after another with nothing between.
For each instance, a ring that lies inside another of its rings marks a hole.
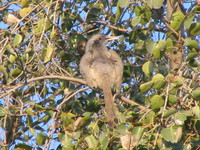
<instances>
[{"instance_id":1,"label":"grey head of the bird with its pale pointed beak","mask_svg":"<svg viewBox=\"0 0 200 150\"><path fill-rule=\"evenodd\" d=\"M117 40L118 37L110 35L95 34L87 42L86 52L94 48L105 47L108 41Z\"/></svg>"}]
</instances>

